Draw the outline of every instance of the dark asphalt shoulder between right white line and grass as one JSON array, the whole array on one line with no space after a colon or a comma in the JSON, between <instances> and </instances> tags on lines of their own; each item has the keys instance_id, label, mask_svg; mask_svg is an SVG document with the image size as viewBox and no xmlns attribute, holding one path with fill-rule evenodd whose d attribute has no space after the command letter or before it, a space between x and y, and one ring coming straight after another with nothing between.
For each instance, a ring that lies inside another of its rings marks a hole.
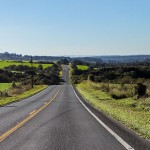
<instances>
[{"instance_id":1,"label":"dark asphalt shoulder between right white line and grass","mask_svg":"<svg viewBox=\"0 0 150 150\"><path fill-rule=\"evenodd\" d=\"M88 109L92 113L94 113L102 122L104 122L110 129L112 129L116 134L118 134L122 139L132 145L136 150L149 150L150 149L150 141L143 139L139 135L137 135L131 129L128 129L119 121L111 118L110 116L106 115L105 113L101 112L100 110L95 109L91 104L89 104L77 91L74 87L74 90L80 100L86 105ZM128 137L128 138L127 138Z\"/></svg>"}]
</instances>

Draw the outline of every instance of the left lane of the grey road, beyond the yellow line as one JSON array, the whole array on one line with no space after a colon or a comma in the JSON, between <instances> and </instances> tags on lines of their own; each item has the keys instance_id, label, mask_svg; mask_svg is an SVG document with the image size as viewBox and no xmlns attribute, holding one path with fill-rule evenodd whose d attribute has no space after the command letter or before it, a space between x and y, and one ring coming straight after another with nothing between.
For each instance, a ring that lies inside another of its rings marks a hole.
<instances>
[{"instance_id":1,"label":"left lane of the grey road, beyond the yellow line","mask_svg":"<svg viewBox=\"0 0 150 150\"><path fill-rule=\"evenodd\" d=\"M0 107L0 135L39 109L59 88L59 86L50 86L32 97Z\"/></svg>"}]
</instances>

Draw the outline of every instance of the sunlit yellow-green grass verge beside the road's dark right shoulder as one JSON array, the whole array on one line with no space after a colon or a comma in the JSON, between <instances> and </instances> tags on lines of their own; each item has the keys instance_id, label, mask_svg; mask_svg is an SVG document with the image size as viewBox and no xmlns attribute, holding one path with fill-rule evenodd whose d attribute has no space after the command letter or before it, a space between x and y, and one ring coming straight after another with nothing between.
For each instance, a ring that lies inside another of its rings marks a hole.
<instances>
[{"instance_id":1,"label":"sunlit yellow-green grass verge beside the road's dark right shoulder","mask_svg":"<svg viewBox=\"0 0 150 150\"><path fill-rule=\"evenodd\" d=\"M76 86L79 93L96 109L99 109L113 118L121 121L125 126L133 129L144 138L150 139L150 111L134 107L133 104L150 99L134 100L124 98L121 100L113 99L110 95L102 92L99 84L92 82L82 82ZM148 107L148 106L147 106Z\"/></svg>"}]
</instances>

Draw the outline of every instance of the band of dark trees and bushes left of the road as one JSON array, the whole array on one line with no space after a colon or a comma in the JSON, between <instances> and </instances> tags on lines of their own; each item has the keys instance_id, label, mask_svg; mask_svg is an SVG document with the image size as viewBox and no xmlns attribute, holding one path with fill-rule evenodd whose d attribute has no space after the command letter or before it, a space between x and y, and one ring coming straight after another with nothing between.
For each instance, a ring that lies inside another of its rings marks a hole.
<instances>
[{"instance_id":1,"label":"band of dark trees and bushes left of the road","mask_svg":"<svg viewBox=\"0 0 150 150\"><path fill-rule=\"evenodd\" d=\"M4 69L0 69L0 82L22 82L23 84L30 84L31 77L33 77L34 84L59 84L59 72L61 64L53 64L51 67L43 69L42 64L38 67L24 66L24 65L10 65Z\"/></svg>"}]
</instances>

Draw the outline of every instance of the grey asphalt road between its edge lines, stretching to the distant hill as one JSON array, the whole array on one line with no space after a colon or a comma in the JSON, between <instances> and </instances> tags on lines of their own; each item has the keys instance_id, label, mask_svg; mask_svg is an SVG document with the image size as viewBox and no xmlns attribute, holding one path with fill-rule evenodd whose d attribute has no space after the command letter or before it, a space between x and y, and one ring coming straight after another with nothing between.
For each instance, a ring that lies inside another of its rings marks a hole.
<instances>
[{"instance_id":1,"label":"grey asphalt road between its edge lines, stretching to the distant hill","mask_svg":"<svg viewBox=\"0 0 150 150\"><path fill-rule=\"evenodd\" d=\"M62 85L50 86L31 98L0 108L0 138L20 125L0 142L0 150L126 149L79 102L69 84L67 66L63 78L66 82Z\"/></svg>"}]
</instances>

